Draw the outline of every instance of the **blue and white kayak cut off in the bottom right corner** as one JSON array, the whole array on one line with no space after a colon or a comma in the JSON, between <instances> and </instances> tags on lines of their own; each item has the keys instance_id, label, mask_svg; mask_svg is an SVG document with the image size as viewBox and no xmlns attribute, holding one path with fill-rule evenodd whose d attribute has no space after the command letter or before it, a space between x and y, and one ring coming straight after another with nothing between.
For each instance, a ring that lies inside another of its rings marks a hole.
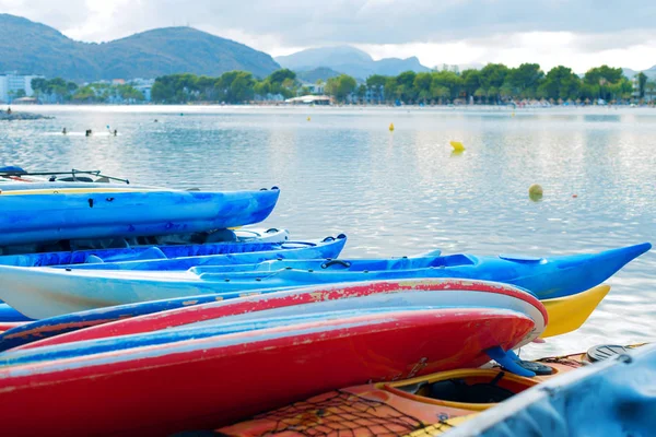
<instances>
[{"instance_id":1,"label":"blue and white kayak cut off in the bottom right corner","mask_svg":"<svg viewBox=\"0 0 656 437\"><path fill-rule=\"evenodd\" d=\"M566 373L528 389L448 435L653 436L656 345Z\"/></svg>"}]
</instances>

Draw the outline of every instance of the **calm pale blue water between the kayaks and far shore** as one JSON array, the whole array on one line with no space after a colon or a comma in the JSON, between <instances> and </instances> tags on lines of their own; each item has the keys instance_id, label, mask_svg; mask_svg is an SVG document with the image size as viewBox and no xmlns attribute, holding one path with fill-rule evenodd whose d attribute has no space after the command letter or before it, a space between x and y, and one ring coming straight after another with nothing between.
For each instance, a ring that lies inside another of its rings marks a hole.
<instances>
[{"instance_id":1,"label":"calm pale blue water between the kayaks and far shore","mask_svg":"<svg viewBox=\"0 0 656 437\"><path fill-rule=\"evenodd\" d=\"M0 122L0 164L102 169L178 188L278 186L266 225L293 238L345 233L344 257L435 248L552 256L656 243L653 109L25 110L56 118ZM63 127L73 133L60 134ZM86 129L97 134L85 138ZM466 152L453 155L449 140ZM542 201L529 200L531 184L543 187ZM525 353L656 340L656 251L609 284L581 330Z\"/></svg>"}]
</instances>

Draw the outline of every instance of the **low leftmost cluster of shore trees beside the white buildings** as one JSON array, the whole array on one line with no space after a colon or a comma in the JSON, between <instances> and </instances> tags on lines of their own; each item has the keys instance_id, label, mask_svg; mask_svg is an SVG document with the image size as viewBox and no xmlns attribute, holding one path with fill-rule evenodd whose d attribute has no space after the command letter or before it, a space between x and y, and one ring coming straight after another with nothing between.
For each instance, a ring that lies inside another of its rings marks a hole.
<instances>
[{"instance_id":1,"label":"low leftmost cluster of shore trees beside the white buildings","mask_svg":"<svg viewBox=\"0 0 656 437\"><path fill-rule=\"evenodd\" d=\"M90 83L78 86L74 82L67 82L61 78L32 80L32 90L37 99L49 103L113 103L113 102L142 102L143 93L130 84Z\"/></svg>"}]
</instances>

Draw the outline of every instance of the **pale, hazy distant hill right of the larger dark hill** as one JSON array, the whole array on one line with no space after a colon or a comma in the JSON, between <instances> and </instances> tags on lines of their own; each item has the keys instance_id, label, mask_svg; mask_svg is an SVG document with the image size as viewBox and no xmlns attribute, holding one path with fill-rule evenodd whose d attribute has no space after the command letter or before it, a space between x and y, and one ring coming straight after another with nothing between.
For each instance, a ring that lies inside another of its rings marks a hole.
<instances>
[{"instance_id":1,"label":"pale, hazy distant hill right of the larger dark hill","mask_svg":"<svg viewBox=\"0 0 656 437\"><path fill-rule=\"evenodd\" d=\"M375 61L367 52L351 46L311 48L276 58L278 63L294 71L309 71L326 67L363 80L372 74L397 75L403 71L431 71L415 57L385 58Z\"/></svg>"}]
</instances>

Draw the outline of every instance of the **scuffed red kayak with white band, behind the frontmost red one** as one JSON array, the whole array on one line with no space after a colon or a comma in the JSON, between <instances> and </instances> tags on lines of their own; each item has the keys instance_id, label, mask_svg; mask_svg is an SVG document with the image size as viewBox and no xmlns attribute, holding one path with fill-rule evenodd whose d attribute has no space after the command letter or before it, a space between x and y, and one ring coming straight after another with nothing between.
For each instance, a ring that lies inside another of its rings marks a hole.
<instances>
[{"instance_id":1,"label":"scuffed red kayak with white band, behind the frontmost red one","mask_svg":"<svg viewBox=\"0 0 656 437\"><path fill-rule=\"evenodd\" d=\"M402 294L403 302L391 300ZM321 298L317 298L320 296ZM153 332L162 329L189 326L190 323L260 319L283 314L309 314L365 307L405 306L481 306L488 308L507 308L527 314L539 322L546 318L540 314L542 305L537 298L513 285L485 281L456 279L389 280L350 284L319 285L255 295L236 300L223 300L211 304L183 307L129 319L117 320L96 327L35 341L16 350L42 347L77 341L95 340L110 336ZM246 316L250 315L250 316Z\"/></svg>"}]
</instances>

